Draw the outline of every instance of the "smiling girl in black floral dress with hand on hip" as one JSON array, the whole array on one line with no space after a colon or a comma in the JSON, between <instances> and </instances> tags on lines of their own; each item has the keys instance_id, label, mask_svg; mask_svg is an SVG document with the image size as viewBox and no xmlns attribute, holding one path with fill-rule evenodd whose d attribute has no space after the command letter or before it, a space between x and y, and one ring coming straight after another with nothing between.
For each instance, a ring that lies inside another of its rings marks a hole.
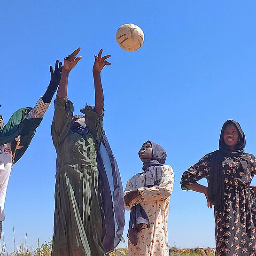
<instances>
[{"instance_id":1,"label":"smiling girl in black floral dress with hand on hip","mask_svg":"<svg viewBox=\"0 0 256 256\"><path fill-rule=\"evenodd\" d=\"M244 153L245 136L240 124L227 120L221 129L219 149L205 155L185 171L181 188L205 194L214 205L216 256L256 255L256 159ZM197 183L206 178L208 187Z\"/></svg>"}]
</instances>

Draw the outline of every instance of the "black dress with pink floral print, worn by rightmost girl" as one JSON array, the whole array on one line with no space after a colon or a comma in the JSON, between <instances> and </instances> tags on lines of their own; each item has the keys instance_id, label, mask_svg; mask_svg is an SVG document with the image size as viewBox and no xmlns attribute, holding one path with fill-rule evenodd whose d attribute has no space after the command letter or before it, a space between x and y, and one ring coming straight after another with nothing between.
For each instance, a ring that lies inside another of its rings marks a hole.
<instances>
[{"instance_id":1,"label":"black dress with pink floral print, worn by rightmost girl","mask_svg":"<svg viewBox=\"0 0 256 256\"><path fill-rule=\"evenodd\" d=\"M182 175L181 188L197 180L209 178L209 162L212 153L205 155ZM256 205L255 194L249 185L256 174L254 155L243 153L247 158L246 170L240 170L239 162L225 157L222 166L225 182L223 209L215 209L216 256L256 255Z\"/></svg>"}]
</instances>

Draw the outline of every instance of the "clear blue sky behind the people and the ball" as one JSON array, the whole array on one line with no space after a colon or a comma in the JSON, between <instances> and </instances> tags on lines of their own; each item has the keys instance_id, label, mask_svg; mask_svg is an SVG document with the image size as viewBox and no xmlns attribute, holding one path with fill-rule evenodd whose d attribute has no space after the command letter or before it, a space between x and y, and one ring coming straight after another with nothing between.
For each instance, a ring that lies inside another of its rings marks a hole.
<instances>
[{"instance_id":1,"label":"clear blue sky behind the people and the ball","mask_svg":"<svg viewBox=\"0 0 256 256\"><path fill-rule=\"evenodd\" d=\"M182 191L181 175L218 148L227 119L238 121L256 154L256 2L248 1L18 1L0 4L1 98L5 121L34 106L49 83L49 66L77 47L83 59L70 73L68 97L75 113L94 104L92 66L101 48L111 54L102 71L104 129L123 186L141 171L146 140L163 146L173 167L168 232L170 246L214 246L214 214L203 194ZM126 52L116 30L135 23L144 45ZM36 246L53 235L55 149L48 109L31 145L14 165L3 223L6 251L25 238ZM205 184L205 181L203 182ZM255 180L253 180L256 185ZM127 240L129 212L125 213ZM2 241L1 241L2 242Z\"/></svg>"}]
</instances>

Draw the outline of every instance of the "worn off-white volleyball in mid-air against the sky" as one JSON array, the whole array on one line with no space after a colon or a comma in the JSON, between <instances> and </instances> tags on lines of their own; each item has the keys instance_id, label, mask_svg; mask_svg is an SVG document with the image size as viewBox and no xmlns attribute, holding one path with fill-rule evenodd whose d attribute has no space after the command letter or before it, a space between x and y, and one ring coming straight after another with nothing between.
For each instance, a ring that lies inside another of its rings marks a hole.
<instances>
[{"instance_id":1,"label":"worn off-white volleyball in mid-air against the sky","mask_svg":"<svg viewBox=\"0 0 256 256\"><path fill-rule=\"evenodd\" d=\"M116 31L116 41L125 51L133 52L143 45L144 33L135 24L124 24Z\"/></svg>"}]
</instances>

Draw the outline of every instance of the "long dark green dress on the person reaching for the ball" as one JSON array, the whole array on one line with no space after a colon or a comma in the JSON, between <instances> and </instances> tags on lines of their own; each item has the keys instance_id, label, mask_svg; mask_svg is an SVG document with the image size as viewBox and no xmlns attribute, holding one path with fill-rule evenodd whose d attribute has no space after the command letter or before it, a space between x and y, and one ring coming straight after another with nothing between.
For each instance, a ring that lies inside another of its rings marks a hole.
<instances>
[{"instance_id":1,"label":"long dark green dress on the person reaching for the ball","mask_svg":"<svg viewBox=\"0 0 256 256\"><path fill-rule=\"evenodd\" d=\"M103 114L90 106L89 132L70 131L73 104L56 97L52 138L57 152L52 256L102 256L102 220L98 200L96 150L101 143Z\"/></svg>"}]
</instances>

